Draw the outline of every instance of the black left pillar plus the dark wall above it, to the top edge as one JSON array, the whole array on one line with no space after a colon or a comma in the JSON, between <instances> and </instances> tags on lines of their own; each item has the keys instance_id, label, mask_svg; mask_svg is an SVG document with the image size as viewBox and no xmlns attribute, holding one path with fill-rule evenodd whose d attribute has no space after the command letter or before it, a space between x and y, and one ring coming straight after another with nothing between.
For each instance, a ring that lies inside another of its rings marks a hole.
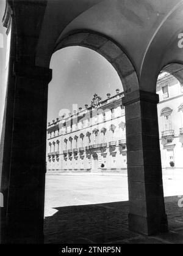
<instances>
[{"instance_id":1,"label":"black left pillar plus the dark wall above it, to the top edge","mask_svg":"<svg viewBox=\"0 0 183 256\"><path fill-rule=\"evenodd\" d=\"M7 1L9 75L0 146L1 243L42 243L50 69L35 66L47 1ZM8 15L9 13L9 15ZM11 15L10 15L11 13Z\"/></svg>"}]
</instances>

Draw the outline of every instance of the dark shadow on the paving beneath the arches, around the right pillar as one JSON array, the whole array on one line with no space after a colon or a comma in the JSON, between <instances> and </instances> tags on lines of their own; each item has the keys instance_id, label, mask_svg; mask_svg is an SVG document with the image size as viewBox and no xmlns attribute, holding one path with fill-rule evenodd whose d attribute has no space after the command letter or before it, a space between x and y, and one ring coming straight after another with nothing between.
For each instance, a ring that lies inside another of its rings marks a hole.
<instances>
[{"instance_id":1,"label":"dark shadow on the paving beneath the arches, around the right pillar","mask_svg":"<svg viewBox=\"0 0 183 256\"><path fill-rule=\"evenodd\" d=\"M45 217L45 243L183 243L183 208L178 197L165 198L170 232L142 236L128 229L128 201L65 206Z\"/></svg>"}]
</instances>

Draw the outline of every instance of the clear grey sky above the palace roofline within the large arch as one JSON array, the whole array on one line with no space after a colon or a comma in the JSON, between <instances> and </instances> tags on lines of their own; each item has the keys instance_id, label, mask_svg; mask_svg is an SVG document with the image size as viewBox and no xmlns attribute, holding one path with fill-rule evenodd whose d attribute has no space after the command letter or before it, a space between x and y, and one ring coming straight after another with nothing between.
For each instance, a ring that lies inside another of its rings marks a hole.
<instances>
[{"instance_id":1,"label":"clear grey sky above the palace roofline within the large arch","mask_svg":"<svg viewBox=\"0 0 183 256\"><path fill-rule=\"evenodd\" d=\"M123 91L120 77L104 57L85 47L66 47L52 55L52 81L48 87L48 122L59 117L59 111L73 104L90 106L93 94L106 99L109 92ZM75 109L75 107L74 107Z\"/></svg>"}]
</instances>

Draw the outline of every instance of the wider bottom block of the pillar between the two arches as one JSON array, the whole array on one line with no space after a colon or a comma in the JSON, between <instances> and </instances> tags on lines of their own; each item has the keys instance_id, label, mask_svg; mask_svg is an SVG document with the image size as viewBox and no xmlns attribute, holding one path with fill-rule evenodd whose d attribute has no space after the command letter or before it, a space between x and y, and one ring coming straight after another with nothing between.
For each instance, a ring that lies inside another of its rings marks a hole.
<instances>
[{"instance_id":1,"label":"wider bottom block of the pillar between the two arches","mask_svg":"<svg viewBox=\"0 0 183 256\"><path fill-rule=\"evenodd\" d=\"M129 230L142 235L158 235L168 232L167 214L164 216L144 217L130 213L128 222Z\"/></svg>"}]
</instances>

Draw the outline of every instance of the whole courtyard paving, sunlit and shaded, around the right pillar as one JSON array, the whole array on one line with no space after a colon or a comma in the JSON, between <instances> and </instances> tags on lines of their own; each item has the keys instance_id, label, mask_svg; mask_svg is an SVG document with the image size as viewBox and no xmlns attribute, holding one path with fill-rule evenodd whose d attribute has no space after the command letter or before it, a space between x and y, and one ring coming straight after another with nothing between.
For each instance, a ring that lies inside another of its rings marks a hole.
<instances>
[{"instance_id":1,"label":"whole courtyard paving, sunlit and shaded, around the right pillar","mask_svg":"<svg viewBox=\"0 0 183 256\"><path fill-rule=\"evenodd\" d=\"M182 244L182 178L166 177L163 186L170 231L143 236L128 230L125 175L47 175L45 243Z\"/></svg>"}]
</instances>

